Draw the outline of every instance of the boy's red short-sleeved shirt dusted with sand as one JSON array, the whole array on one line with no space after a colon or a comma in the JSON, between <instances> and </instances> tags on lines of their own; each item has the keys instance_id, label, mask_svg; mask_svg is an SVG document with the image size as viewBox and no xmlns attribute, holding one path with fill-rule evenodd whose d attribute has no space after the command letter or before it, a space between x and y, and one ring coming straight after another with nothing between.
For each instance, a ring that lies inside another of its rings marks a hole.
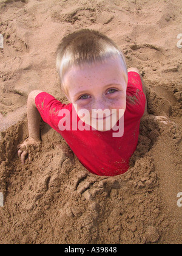
<instances>
[{"instance_id":1,"label":"boy's red short-sleeved shirt dusted with sand","mask_svg":"<svg viewBox=\"0 0 182 256\"><path fill-rule=\"evenodd\" d=\"M92 130L73 130L73 104L62 104L48 93L39 93L35 104L45 123L62 135L82 165L99 176L116 176L129 169L130 157L138 144L140 119L144 114L146 98L138 73L129 72L127 84L126 111L124 112L124 133L113 137L116 130L105 132ZM71 129L59 130L60 110L69 110ZM76 113L76 112L75 112ZM76 115L76 122L81 121ZM119 120L120 121L120 120ZM118 121L118 122L119 122ZM119 123L117 123L118 125Z\"/></svg>"}]
</instances>

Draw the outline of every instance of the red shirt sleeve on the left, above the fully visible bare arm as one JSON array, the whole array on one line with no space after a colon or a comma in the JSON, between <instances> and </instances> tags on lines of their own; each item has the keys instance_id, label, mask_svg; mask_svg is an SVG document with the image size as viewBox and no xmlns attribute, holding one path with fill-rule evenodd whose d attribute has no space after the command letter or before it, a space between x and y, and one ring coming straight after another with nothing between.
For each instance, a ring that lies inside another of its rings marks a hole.
<instances>
[{"instance_id":1,"label":"red shirt sleeve on the left, above the fully visible bare arm","mask_svg":"<svg viewBox=\"0 0 182 256\"><path fill-rule=\"evenodd\" d=\"M35 98L36 107L43 119L53 129L59 131L60 110L66 109L71 111L72 104L62 104L49 93L39 93Z\"/></svg>"}]
</instances>

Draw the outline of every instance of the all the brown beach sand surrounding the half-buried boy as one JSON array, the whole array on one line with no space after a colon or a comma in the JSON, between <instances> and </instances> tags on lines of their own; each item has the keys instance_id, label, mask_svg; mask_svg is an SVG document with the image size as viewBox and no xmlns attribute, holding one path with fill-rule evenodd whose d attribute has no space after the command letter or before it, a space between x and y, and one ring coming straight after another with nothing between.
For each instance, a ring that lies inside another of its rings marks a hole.
<instances>
[{"instance_id":1,"label":"all the brown beach sand surrounding the half-buried boy","mask_svg":"<svg viewBox=\"0 0 182 256\"><path fill-rule=\"evenodd\" d=\"M1 0L0 243L182 242L181 0ZM97 29L140 69L148 110L122 176L98 177L62 154L64 139L41 123L42 145L21 165L26 102L39 89L68 103L55 51L64 35ZM177 38L178 37L178 38ZM177 204L178 202L178 204Z\"/></svg>"}]
</instances>

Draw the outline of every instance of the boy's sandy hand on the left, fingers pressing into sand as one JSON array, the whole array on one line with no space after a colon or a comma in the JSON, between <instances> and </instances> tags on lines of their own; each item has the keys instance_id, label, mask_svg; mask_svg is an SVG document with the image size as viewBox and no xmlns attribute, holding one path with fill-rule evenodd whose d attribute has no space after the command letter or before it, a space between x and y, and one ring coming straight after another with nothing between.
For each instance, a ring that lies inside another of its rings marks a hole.
<instances>
[{"instance_id":1,"label":"boy's sandy hand on the left, fingers pressing into sand","mask_svg":"<svg viewBox=\"0 0 182 256\"><path fill-rule=\"evenodd\" d=\"M18 157L21 158L21 163L24 165L25 157L29 155L29 162L32 161L30 149L35 150L36 147L40 146L41 140L38 138L27 138L22 144L18 145ZM32 152L33 153L33 152Z\"/></svg>"}]
</instances>

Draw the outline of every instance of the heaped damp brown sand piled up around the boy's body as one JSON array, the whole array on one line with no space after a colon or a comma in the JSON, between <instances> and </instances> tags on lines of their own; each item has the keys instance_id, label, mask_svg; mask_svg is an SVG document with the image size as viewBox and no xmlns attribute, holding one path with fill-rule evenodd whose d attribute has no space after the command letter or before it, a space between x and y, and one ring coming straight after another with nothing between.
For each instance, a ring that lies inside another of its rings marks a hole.
<instances>
[{"instance_id":1,"label":"heaped damp brown sand piled up around the boy's body","mask_svg":"<svg viewBox=\"0 0 182 256\"><path fill-rule=\"evenodd\" d=\"M174 123L144 120L131 168L117 177L94 176L77 159L73 164L49 127L33 163L22 167L15 152L25 127L20 122L1 139L2 243L181 242L175 194L181 137Z\"/></svg>"}]
</instances>

